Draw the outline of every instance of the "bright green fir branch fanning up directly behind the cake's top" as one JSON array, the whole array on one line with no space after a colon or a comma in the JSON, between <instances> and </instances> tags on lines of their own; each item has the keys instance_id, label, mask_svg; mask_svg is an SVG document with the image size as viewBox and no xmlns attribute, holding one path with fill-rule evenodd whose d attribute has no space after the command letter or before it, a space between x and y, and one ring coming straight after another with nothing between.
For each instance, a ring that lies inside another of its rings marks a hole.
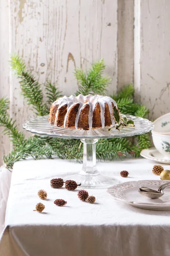
<instances>
[{"instance_id":1,"label":"bright green fir branch fanning up directly behind the cake's top","mask_svg":"<svg viewBox=\"0 0 170 256\"><path fill-rule=\"evenodd\" d=\"M106 87L111 82L108 76L103 76L105 70L105 64L103 59L95 62L87 74L82 69L75 69L75 77L79 82L79 90L76 92L76 96L79 94L104 94Z\"/></svg>"}]
</instances>

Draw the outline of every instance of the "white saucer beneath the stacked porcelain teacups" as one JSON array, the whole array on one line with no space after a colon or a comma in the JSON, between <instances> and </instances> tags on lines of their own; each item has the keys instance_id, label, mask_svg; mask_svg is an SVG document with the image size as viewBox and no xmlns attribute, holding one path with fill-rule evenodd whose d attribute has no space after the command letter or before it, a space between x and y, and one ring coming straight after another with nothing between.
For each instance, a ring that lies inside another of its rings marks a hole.
<instances>
[{"instance_id":1,"label":"white saucer beneath the stacked porcelain teacups","mask_svg":"<svg viewBox=\"0 0 170 256\"><path fill-rule=\"evenodd\" d=\"M147 148L141 151L141 156L159 163L170 164L170 160L164 159L164 156L159 153L156 148Z\"/></svg>"}]
</instances>

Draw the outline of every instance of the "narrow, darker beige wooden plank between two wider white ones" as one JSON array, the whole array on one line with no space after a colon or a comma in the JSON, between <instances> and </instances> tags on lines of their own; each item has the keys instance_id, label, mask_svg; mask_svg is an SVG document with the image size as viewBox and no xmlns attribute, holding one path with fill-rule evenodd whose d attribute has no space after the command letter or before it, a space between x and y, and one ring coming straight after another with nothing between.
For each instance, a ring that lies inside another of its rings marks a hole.
<instances>
[{"instance_id":1,"label":"narrow, darker beige wooden plank between two wider white ones","mask_svg":"<svg viewBox=\"0 0 170 256\"><path fill-rule=\"evenodd\" d=\"M133 84L134 0L118 1L118 90Z\"/></svg>"}]
</instances>

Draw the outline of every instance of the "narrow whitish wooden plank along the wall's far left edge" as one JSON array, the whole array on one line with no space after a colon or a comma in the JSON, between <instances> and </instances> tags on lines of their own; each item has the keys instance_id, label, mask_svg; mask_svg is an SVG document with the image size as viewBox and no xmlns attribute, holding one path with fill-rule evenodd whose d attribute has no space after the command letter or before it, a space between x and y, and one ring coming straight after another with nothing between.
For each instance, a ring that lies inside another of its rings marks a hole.
<instances>
[{"instance_id":1,"label":"narrow whitish wooden plank along the wall's far left edge","mask_svg":"<svg viewBox=\"0 0 170 256\"><path fill-rule=\"evenodd\" d=\"M9 6L8 0L0 0L0 98L9 95ZM0 166L2 157L10 151L10 142L6 135L1 134L0 127Z\"/></svg>"}]
</instances>

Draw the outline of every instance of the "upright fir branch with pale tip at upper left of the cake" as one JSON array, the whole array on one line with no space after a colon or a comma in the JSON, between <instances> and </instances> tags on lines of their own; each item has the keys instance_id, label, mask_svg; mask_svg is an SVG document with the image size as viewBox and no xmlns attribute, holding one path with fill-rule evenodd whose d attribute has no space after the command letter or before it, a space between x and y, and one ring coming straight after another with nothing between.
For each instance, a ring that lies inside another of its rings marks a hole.
<instances>
[{"instance_id":1,"label":"upright fir branch with pale tip at upper left of the cake","mask_svg":"<svg viewBox=\"0 0 170 256\"><path fill-rule=\"evenodd\" d=\"M26 71L26 65L18 55L11 56L11 69L14 75L20 80L22 94L28 105L32 105L36 114L44 116L49 113L48 107L43 103L41 86L35 77Z\"/></svg>"}]
</instances>

